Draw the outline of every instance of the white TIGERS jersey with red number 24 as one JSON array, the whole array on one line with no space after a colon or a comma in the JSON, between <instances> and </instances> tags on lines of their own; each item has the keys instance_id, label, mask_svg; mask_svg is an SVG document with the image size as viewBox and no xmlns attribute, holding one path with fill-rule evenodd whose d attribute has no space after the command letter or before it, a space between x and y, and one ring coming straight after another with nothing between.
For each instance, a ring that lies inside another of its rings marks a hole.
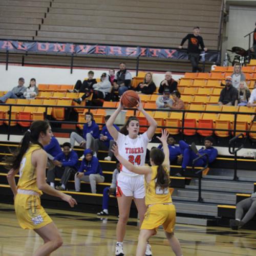
<instances>
[{"instance_id":1,"label":"white TIGERS jersey with red number 24","mask_svg":"<svg viewBox=\"0 0 256 256\"><path fill-rule=\"evenodd\" d=\"M136 139L131 139L129 135L123 135L118 133L116 143L118 145L119 154L137 166L143 166L146 159L146 148L150 140L147 137L146 132L138 135ZM128 174L129 176L137 176L129 169L121 165L121 172Z\"/></svg>"}]
</instances>

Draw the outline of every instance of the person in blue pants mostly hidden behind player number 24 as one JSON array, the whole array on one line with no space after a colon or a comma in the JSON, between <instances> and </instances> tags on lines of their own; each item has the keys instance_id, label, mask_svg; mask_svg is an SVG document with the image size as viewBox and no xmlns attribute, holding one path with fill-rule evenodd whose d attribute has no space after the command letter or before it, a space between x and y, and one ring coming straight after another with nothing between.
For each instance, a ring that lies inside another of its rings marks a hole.
<instances>
[{"instance_id":1,"label":"person in blue pants mostly hidden behind player number 24","mask_svg":"<svg viewBox=\"0 0 256 256\"><path fill-rule=\"evenodd\" d=\"M117 162L116 169L113 172L112 181L110 187L105 187L103 190L103 201L102 201L102 211L98 212L99 216L109 215L109 198L110 195L116 196L116 183L117 177L120 173L120 163Z\"/></svg>"}]
</instances>

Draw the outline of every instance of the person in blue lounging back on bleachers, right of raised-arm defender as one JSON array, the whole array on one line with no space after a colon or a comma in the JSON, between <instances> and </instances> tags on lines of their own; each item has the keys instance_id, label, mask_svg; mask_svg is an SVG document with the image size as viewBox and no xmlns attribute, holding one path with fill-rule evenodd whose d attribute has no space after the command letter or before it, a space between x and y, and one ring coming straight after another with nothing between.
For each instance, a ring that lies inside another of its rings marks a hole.
<instances>
[{"instance_id":1,"label":"person in blue lounging back on bleachers, right of raised-arm defender","mask_svg":"<svg viewBox=\"0 0 256 256\"><path fill-rule=\"evenodd\" d=\"M176 176L184 176L184 172L186 170L186 167L189 165L192 165L192 162L194 159L199 157L200 155L207 154L209 158L209 163L212 163L218 156L218 151L216 148L212 146L214 143L214 139L211 136L207 136L204 138L204 146L202 147L198 153L196 154L191 150L190 146L184 141L180 140L180 150L181 154L183 155L183 160L181 164L182 170L176 174ZM206 156L203 158L200 158L196 161L195 166L204 166L206 164Z\"/></svg>"}]
</instances>

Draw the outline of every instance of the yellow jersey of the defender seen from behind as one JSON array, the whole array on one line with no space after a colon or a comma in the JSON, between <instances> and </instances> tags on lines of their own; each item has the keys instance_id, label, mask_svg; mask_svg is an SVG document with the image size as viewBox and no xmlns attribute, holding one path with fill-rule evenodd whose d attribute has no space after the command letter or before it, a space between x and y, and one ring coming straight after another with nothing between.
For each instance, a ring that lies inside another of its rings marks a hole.
<instances>
[{"instance_id":1,"label":"yellow jersey of the defender seen from behind","mask_svg":"<svg viewBox=\"0 0 256 256\"><path fill-rule=\"evenodd\" d=\"M170 197L169 188L166 187L162 189L160 186L156 186L156 179L157 176L157 167L158 166L152 166L152 180L150 183L146 182L146 179L144 180L145 183L145 204L159 204L159 203L171 203L172 198Z\"/></svg>"}]
</instances>

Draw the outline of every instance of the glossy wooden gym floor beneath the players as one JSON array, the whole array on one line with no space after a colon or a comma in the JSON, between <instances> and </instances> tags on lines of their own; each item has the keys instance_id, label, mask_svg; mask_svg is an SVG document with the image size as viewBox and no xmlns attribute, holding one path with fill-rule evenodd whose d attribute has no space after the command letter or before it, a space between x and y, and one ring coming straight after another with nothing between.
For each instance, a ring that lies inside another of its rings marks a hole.
<instances>
[{"instance_id":1,"label":"glossy wooden gym floor beneath the players","mask_svg":"<svg viewBox=\"0 0 256 256\"><path fill-rule=\"evenodd\" d=\"M52 255L114 255L117 218L97 218L82 212L47 209L63 238L63 246ZM137 220L130 219L124 241L125 256L135 255ZM232 231L223 227L176 225L183 255L256 255L256 231ZM150 240L154 256L174 255L159 229ZM0 255L32 255L42 240L32 230L19 227L13 206L0 204Z\"/></svg>"}]
</instances>

